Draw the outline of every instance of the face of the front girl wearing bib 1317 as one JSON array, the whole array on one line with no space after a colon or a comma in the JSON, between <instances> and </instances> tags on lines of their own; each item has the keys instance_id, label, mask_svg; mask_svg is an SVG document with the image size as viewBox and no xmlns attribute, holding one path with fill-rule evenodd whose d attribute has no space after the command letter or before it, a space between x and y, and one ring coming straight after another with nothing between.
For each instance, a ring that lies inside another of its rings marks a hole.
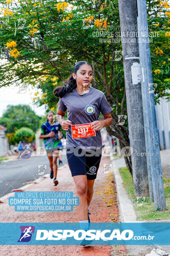
<instances>
[{"instance_id":1,"label":"face of the front girl wearing bib 1317","mask_svg":"<svg viewBox=\"0 0 170 256\"><path fill-rule=\"evenodd\" d=\"M76 79L77 85L82 85L91 83L93 78L93 70L90 65L83 64L79 70L77 70L77 74L73 73L73 78Z\"/></svg>"}]
</instances>

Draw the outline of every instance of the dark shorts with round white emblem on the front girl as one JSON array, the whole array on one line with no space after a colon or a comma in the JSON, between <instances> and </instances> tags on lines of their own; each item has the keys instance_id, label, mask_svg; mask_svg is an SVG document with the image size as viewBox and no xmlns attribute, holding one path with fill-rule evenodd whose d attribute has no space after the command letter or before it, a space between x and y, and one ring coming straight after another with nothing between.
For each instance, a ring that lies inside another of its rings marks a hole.
<instances>
[{"instance_id":1,"label":"dark shorts with round white emblem on the front girl","mask_svg":"<svg viewBox=\"0 0 170 256\"><path fill-rule=\"evenodd\" d=\"M90 151L84 151L82 148L77 149L77 154L80 156L75 155L73 148L75 149L76 147L66 147L66 156L72 177L76 175L87 175L88 180L95 180L102 157L102 148L98 147L98 149L95 149L95 155L93 156L91 156Z\"/></svg>"}]
</instances>

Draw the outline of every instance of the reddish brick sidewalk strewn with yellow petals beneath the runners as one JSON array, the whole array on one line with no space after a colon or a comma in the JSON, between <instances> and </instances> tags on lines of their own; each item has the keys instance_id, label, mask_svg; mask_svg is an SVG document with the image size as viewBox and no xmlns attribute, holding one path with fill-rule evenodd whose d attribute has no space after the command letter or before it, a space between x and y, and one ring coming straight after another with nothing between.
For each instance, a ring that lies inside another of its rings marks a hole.
<instances>
[{"instance_id":1,"label":"reddish brick sidewalk strewn with yellow petals beneath the runners","mask_svg":"<svg viewBox=\"0 0 170 256\"><path fill-rule=\"evenodd\" d=\"M103 163L111 163L109 157L102 157L98 175L94 183L94 195L89 207L91 222L121 222L116 195L116 184L113 174L102 174ZM53 186L53 181L47 178L39 179L37 184L31 183L23 186L23 191L73 191L76 196L74 180L68 165L58 170L59 184ZM73 212L15 212L14 207L8 206L8 197L14 192L1 198L0 222L79 222L76 207ZM1 256L126 256L123 245L91 245L83 248L81 245L1 245Z\"/></svg>"}]
</instances>

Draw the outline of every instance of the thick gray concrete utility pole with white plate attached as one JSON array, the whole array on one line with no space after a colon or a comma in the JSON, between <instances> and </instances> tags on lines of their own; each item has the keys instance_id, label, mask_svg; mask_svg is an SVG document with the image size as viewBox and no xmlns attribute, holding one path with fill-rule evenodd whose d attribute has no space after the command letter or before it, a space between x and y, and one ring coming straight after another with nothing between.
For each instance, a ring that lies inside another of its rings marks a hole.
<instances>
[{"instance_id":1,"label":"thick gray concrete utility pole with white plate attached","mask_svg":"<svg viewBox=\"0 0 170 256\"><path fill-rule=\"evenodd\" d=\"M119 17L130 148L133 149L133 152L131 151L131 157L134 192L137 197L148 197L149 183L146 145L144 140L139 44L136 37L136 0L119 0ZM130 36L131 34L132 37Z\"/></svg>"}]
</instances>

